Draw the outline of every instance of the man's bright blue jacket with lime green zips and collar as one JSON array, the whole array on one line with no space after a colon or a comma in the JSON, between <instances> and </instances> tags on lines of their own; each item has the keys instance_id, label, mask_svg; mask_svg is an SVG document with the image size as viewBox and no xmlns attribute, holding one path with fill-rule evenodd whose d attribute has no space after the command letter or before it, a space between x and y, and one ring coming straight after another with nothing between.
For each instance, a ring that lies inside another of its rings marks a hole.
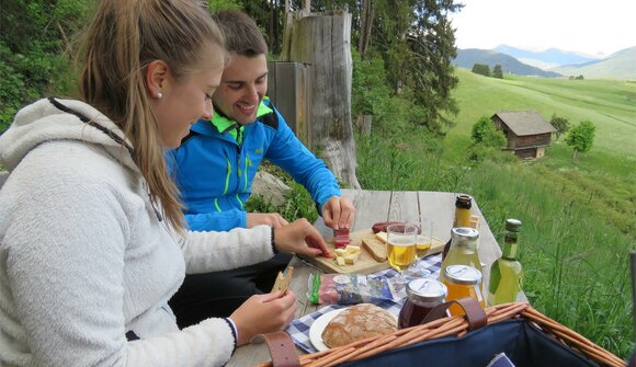
<instances>
[{"instance_id":1,"label":"man's bright blue jacket with lime green zips and collar","mask_svg":"<svg viewBox=\"0 0 636 367\"><path fill-rule=\"evenodd\" d=\"M190 229L247 227L243 206L263 159L303 184L319 210L331 196L341 195L331 171L296 138L269 99L257 116L254 123L239 126L215 111L212 122L196 122L181 147L167 152Z\"/></svg>"}]
</instances>

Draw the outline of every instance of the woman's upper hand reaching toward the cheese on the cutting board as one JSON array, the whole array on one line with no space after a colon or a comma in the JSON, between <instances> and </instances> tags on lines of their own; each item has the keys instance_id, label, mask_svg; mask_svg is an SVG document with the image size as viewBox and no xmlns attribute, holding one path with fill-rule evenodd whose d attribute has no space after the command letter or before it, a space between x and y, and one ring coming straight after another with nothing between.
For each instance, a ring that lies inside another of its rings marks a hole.
<instances>
[{"instance_id":1,"label":"woman's upper hand reaching toward the cheese on the cutting board","mask_svg":"<svg viewBox=\"0 0 636 367\"><path fill-rule=\"evenodd\" d=\"M281 252L295 252L310 256L329 255L322 236L305 218L274 229L274 242Z\"/></svg>"}]
</instances>

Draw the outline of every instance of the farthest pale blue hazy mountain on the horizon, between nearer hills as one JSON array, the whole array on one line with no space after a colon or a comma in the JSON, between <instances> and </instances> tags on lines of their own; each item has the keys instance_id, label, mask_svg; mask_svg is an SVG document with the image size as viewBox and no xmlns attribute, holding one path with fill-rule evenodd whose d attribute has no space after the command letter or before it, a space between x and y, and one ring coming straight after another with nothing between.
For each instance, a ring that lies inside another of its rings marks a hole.
<instances>
[{"instance_id":1,"label":"farthest pale blue hazy mountain on the horizon, between nearer hills","mask_svg":"<svg viewBox=\"0 0 636 367\"><path fill-rule=\"evenodd\" d=\"M564 65L586 64L598 60L598 58L582 56L577 53L564 51L558 48L548 48L541 53L534 53L512 46L500 45L495 47L493 50L512 56L521 62L542 69L550 69Z\"/></svg>"}]
</instances>

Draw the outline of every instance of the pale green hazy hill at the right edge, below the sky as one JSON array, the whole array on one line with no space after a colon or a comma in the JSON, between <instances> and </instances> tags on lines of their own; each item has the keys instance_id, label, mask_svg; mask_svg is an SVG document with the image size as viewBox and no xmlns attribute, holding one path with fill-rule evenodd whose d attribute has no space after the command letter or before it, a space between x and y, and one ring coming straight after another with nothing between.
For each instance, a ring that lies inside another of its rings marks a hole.
<instances>
[{"instance_id":1,"label":"pale green hazy hill at the right edge, below the sky","mask_svg":"<svg viewBox=\"0 0 636 367\"><path fill-rule=\"evenodd\" d=\"M586 79L636 80L636 46L622 49L602 60L566 65L553 70L564 76L583 76Z\"/></svg>"}]
</instances>

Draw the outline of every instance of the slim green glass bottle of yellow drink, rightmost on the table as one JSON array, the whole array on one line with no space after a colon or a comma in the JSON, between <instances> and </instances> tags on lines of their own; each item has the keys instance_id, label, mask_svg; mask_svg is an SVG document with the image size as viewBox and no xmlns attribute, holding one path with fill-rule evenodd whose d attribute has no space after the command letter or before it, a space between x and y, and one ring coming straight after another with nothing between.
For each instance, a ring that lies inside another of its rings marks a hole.
<instances>
[{"instance_id":1,"label":"slim green glass bottle of yellow drink, rightmost on the table","mask_svg":"<svg viewBox=\"0 0 636 367\"><path fill-rule=\"evenodd\" d=\"M503 252L490 266L489 306L514 302L522 293L523 268L518 260L520 231L520 220L512 218L506 220Z\"/></svg>"}]
</instances>

